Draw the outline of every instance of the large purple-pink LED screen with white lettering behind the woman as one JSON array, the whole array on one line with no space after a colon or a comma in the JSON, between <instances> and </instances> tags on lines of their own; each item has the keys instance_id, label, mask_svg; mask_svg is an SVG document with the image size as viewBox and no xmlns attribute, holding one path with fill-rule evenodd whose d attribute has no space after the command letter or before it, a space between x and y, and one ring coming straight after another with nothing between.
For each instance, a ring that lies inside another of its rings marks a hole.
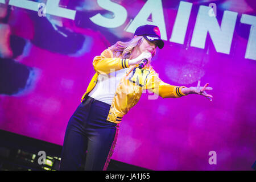
<instances>
[{"instance_id":1,"label":"large purple-pink LED screen with white lettering behind the woman","mask_svg":"<svg viewBox=\"0 0 256 182\"><path fill-rule=\"evenodd\" d=\"M177 86L209 82L213 100L143 93L123 117L112 159L153 170L251 169L254 0L18 2L0 1L1 130L62 145L94 75L93 58L155 24L165 44L152 59L159 77ZM210 151L217 164L209 163Z\"/></svg>"}]
</instances>

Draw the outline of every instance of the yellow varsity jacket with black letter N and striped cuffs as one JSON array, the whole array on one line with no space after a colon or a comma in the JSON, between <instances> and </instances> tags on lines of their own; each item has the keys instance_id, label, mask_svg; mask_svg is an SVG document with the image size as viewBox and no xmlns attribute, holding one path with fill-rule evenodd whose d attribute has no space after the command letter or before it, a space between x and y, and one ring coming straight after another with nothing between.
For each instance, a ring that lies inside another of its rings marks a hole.
<instances>
[{"instance_id":1,"label":"yellow varsity jacket with black letter N and striped cuffs","mask_svg":"<svg viewBox=\"0 0 256 182\"><path fill-rule=\"evenodd\" d=\"M123 115L127 114L131 107L138 103L142 93L145 93L143 90L150 90L156 96L162 98L186 96L181 92L181 88L187 87L173 86L163 82L150 64L146 64L143 69L139 69L138 65L130 66L128 61L129 59L113 57L113 52L110 49L106 49L100 56L94 57L93 67L96 73L82 96L81 102L96 85L99 74L109 74L123 68L129 69L127 69L126 75L121 78L117 90L115 90L107 118L110 122L120 123Z\"/></svg>"}]
</instances>

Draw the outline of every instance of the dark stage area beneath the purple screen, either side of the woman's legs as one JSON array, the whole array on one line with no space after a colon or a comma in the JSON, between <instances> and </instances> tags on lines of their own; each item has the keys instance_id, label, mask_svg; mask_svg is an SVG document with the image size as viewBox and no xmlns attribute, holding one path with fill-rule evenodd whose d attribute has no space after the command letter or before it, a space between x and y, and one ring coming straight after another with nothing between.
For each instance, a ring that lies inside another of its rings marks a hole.
<instances>
[{"instance_id":1,"label":"dark stage area beneath the purple screen, either side of the woman's legs","mask_svg":"<svg viewBox=\"0 0 256 182\"><path fill-rule=\"evenodd\" d=\"M61 148L54 143L0 130L0 171L58 171ZM43 153L40 151L46 154L46 164L42 164ZM110 160L108 171L148 169Z\"/></svg>"}]
</instances>

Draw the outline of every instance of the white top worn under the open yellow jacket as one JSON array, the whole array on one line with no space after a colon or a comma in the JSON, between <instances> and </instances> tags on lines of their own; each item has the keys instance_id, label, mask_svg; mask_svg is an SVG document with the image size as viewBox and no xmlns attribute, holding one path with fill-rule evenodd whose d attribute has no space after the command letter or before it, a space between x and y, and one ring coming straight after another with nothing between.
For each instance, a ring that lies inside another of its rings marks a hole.
<instances>
[{"instance_id":1,"label":"white top worn under the open yellow jacket","mask_svg":"<svg viewBox=\"0 0 256 182\"><path fill-rule=\"evenodd\" d=\"M125 76L127 69L128 68L120 69L109 74L98 75L97 84L94 86L92 91L90 91L88 96L111 105L115 90L117 90L117 86L121 78Z\"/></svg>"}]
</instances>

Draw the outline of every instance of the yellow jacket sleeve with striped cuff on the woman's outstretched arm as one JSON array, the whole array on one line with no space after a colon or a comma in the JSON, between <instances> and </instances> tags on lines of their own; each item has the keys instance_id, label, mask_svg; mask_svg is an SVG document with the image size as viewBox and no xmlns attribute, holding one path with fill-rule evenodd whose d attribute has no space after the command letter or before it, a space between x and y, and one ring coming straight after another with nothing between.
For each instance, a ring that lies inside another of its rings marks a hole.
<instances>
[{"instance_id":1,"label":"yellow jacket sleeve with striped cuff on the woman's outstretched arm","mask_svg":"<svg viewBox=\"0 0 256 182\"><path fill-rule=\"evenodd\" d=\"M158 96L162 98L178 98L182 96L187 96L183 92L181 92L182 88L187 88L186 86L174 86L163 82L158 73L154 70L150 72L150 75L146 82L146 89L158 94Z\"/></svg>"}]
</instances>

